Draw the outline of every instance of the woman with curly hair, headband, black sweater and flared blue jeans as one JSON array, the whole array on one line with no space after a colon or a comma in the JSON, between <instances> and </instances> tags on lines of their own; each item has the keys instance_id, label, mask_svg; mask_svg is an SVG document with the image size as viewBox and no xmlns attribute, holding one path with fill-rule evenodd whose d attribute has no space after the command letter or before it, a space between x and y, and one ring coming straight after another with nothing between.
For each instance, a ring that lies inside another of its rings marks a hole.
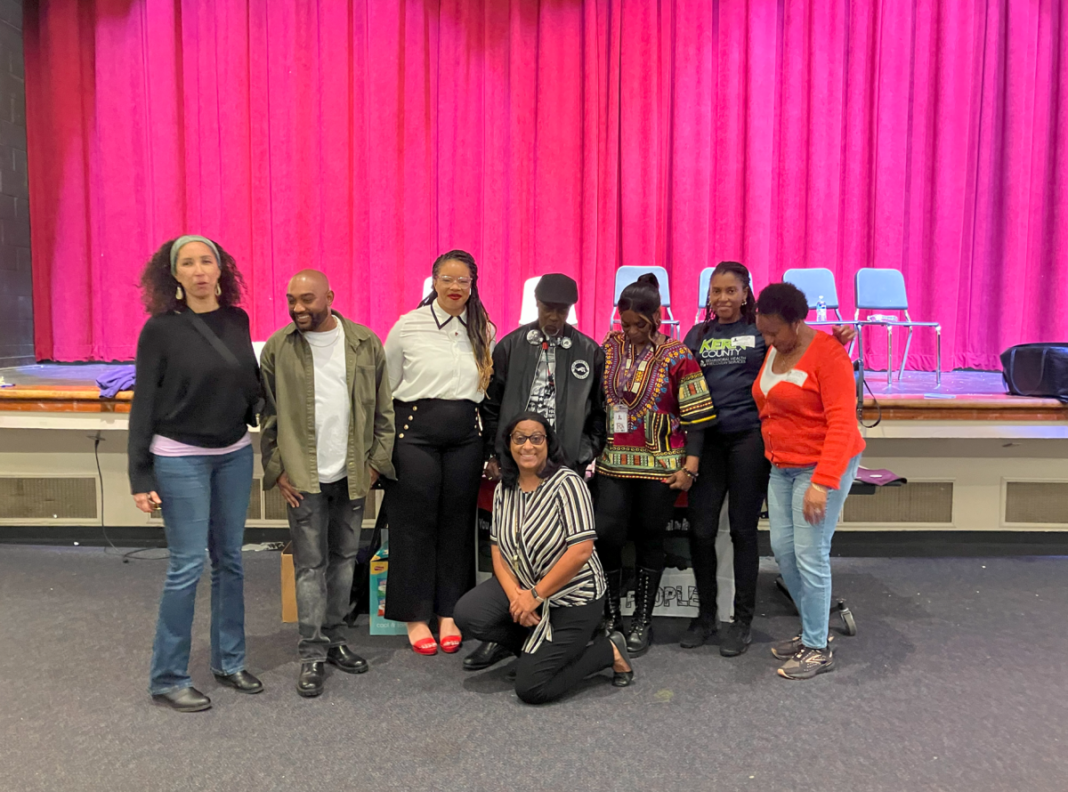
<instances>
[{"instance_id":1,"label":"woman with curly hair, headband, black sweater and flared blue jeans","mask_svg":"<svg viewBox=\"0 0 1068 792\"><path fill-rule=\"evenodd\" d=\"M138 339L129 419L129 478L137 507L162 511L170 549L148 692L179 712L210 699L189 678L193 603L211 558L211 671L240 693L263 684L245 668L241 543L252 487L260 376L244 281L206 237L164 242L141 275L151 318Z\"/></svg>"}]
</instances>

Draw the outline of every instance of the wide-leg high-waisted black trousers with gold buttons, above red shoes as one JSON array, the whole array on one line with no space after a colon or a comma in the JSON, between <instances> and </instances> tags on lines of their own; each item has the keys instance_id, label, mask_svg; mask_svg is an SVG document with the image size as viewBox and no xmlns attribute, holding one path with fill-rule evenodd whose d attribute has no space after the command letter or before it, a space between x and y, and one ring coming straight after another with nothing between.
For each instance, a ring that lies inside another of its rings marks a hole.
<instances>
[{"instance_id":1,"label":"wide-leg high-waisted black trousers with gold buttons, above red shoes","mask_svg":"<svg viewBox=\"0 0 1068 792\"><path fill-rule=\"evenodd\" d=\"M394 401L397 480L386 491L390 580L386 618L453 616L474 582L482 433L473 401Z\"/></svg>"}]
</instances>

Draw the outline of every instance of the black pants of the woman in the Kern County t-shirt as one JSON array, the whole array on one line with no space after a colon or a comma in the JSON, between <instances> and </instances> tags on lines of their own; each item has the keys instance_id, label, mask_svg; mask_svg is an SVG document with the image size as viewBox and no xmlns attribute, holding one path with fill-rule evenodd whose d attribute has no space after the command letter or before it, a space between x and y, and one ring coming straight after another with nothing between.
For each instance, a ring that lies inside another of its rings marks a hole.
<instances>
[{"instance_id":1,"label":"black pants of the woman in the Kern County t-shirt","mask_svg":"<svg viewBox=\"0 0 1068 792\"><path fill-rule=\"evenodd\" d=\"M759 428L740 432L705 430L701 475L690 488L690 557L702 613L716 613L716 535L723 498L734 545L735 620L753 621L759 551L756 524L768 494L771 463L764 456Z\"/></svg>"}]
</instances>

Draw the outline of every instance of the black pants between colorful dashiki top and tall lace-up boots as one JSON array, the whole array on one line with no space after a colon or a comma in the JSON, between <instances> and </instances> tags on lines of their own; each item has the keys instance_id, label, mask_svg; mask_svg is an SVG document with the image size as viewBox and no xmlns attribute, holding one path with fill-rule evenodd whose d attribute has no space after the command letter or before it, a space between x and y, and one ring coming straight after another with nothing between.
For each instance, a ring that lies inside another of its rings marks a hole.
<instances>
[{"instance_id":1,"label":"black pants between colorful dashiki top and tall lace-up boots","mask_svg":"<svg viewBox=\"0 0 1068 792\"><path fill-rule=\"evenodd\" d=\"M656 480L594 477L594 521L597 553L604 569L623 566L621 553L628 534L634 540L637 566L660 572L664 568L664 534L678 490Z\"/></svg>"}]
</instances>

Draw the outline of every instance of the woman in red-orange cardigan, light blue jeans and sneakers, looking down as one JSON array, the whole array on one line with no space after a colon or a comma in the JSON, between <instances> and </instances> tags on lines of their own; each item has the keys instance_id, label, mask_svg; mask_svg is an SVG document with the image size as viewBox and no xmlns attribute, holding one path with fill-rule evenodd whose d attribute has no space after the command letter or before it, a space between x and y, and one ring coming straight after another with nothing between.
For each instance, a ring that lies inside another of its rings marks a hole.
<instances>
[{"instance_id":1,"label":"woman in red-orange cardigan, light blue jeans and sneakers, looking down","mask_svg":"<svg viewBox=\"0 0 1068 792\"><path fill-rule=\"evenodd\" d=\"M812 679L834 668L828 646L831 537L864 450L857 385L842 345L804 322L808 304L800 289L773 283L756 310L769 348L753 397L771 461L771 550L801 615L801 633L771 652L786 661L780 676Z\"/></svg>"}]
</instances>

